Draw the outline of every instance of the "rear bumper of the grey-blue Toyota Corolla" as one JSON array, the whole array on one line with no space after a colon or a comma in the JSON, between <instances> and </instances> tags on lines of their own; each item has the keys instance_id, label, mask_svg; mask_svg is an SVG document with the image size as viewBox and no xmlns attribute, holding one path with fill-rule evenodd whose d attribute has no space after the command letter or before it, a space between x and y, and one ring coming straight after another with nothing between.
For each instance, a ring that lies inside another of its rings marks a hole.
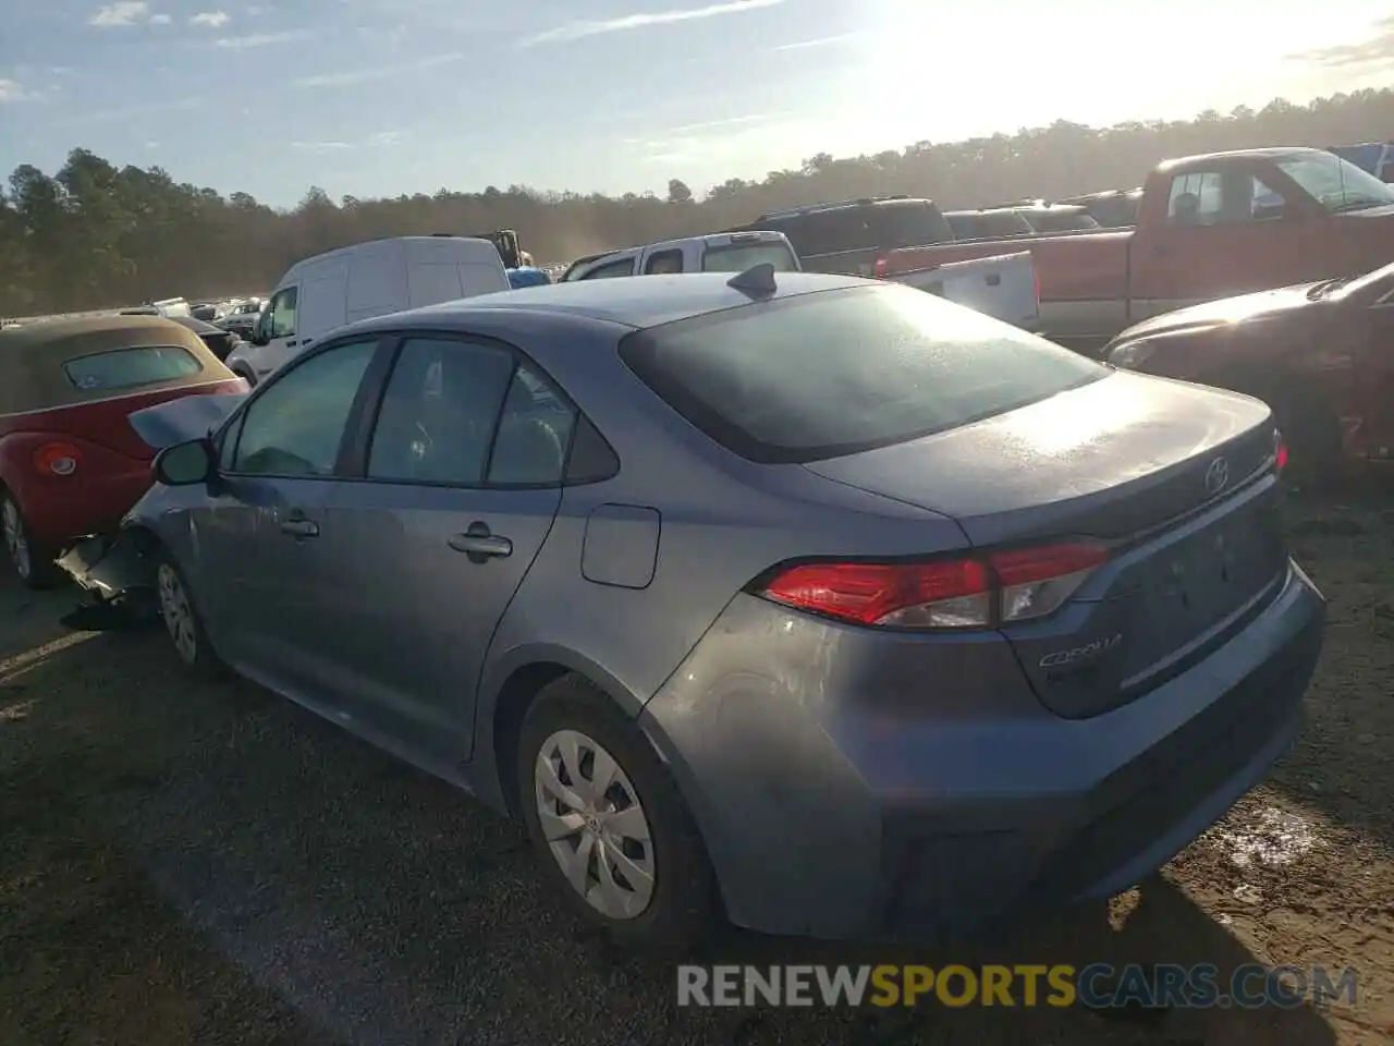
<instances>
[{"instance_id":1,"label":"rear bumper of the grey-blue Toyota Corolla","mask_svg":"<svg viewBox=\"0 0 1394 1046\"><path fill-rule=\"evenodd\" d=\"M1292 743L1324 618L1294 563L1204 661L1064 720L997 637L926 654L740 597L640 724L737 925L976 933L1125 890L1221 817Z\"/></svg>"}]
</instances>

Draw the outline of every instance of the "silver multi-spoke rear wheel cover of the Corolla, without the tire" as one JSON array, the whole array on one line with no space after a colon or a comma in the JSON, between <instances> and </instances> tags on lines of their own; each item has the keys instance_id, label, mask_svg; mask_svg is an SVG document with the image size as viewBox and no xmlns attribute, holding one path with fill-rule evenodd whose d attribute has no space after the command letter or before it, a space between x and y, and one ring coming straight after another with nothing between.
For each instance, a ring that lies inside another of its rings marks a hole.
<instances>
[{"instance_id":1,"label":"silver multi-spoke rear wheel cover of the Corolla, without the tire","mask_svg":"<svg viewBox=\"0 0 1394 1046\"><path fill-rule=\"evenodd\" d=\"M580 731L559 729L542 743L533 781L542 835L572 888L611 919L643 915L654 845L623 767Z\"/></svg>"}]
</instances>

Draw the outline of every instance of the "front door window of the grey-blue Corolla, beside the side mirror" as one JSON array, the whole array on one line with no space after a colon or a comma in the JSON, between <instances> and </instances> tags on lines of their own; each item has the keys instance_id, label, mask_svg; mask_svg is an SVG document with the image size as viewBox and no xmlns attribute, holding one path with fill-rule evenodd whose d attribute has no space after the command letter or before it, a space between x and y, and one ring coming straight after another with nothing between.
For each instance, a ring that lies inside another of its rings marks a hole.
<instances>
[{"instance_id":1,"label":"front door window of the grey-blue Corolla, beside the side mirror","mask_svg":"<svg viewBox=\"0 0 1394 1046\"><path fill-rule=\"evenodd\" d=\"M247 406L231 471L333 476L358 386L376 350L376 340L340 344L270 378Z\"/></svg>"}]
</instances>

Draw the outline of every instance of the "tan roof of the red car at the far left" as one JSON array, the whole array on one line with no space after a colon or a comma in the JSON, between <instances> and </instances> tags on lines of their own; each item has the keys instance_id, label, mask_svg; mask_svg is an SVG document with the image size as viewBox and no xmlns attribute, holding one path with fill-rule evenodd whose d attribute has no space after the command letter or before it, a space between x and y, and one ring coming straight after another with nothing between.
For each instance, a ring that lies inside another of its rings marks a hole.
<instances>
[{"instance_id":1,"label":"tan roof of the red car at the far left","mask_svg":"<svg viewBox=\"0 0 1394 1046\"><path fill-rule=\"evenodd\" d=\"M184 349L204 365L190 381L170 385L233 377L204 339L173 319L146 315L45 319L0 332L0 414L54 410L100 399L105 393L74 386L63 364L78 356L148 346Z\"/></svg>"}]
</instances>

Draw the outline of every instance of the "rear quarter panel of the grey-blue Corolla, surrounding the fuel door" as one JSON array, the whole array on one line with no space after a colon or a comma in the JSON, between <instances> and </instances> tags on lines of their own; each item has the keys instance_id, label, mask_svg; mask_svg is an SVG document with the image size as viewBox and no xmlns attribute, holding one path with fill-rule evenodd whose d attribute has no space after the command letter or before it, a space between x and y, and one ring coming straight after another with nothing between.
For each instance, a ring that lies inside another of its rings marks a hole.
<instances>
[{"instance_id":1,"label":"rear quarter panel of the grey-blue Corolla, surrounding the fuel door","mask_svg":"<svg viewBox=\"0 0 1394 1046\"><path fill-rule=\"evenodd\" d=\"M626 714L676 669L743 586L803 555L912 554L959 548L962 530L927 509L813 476L802 466L735 457L673 413L609 344L565 351L514 340L533 353L590 416L620 459L616 477L566 490L556 522L487 658L475 713L475 757L493 757L499 690L533 661L583 671ZM591 357L588 361L585 357ZM602 358L597 358L602 357ZM592 512L630 506L658 513L654 576L643 589L587 580L581 556ZM481 773L484 795L491 775Z\"/></svg>"}]
</instances>

